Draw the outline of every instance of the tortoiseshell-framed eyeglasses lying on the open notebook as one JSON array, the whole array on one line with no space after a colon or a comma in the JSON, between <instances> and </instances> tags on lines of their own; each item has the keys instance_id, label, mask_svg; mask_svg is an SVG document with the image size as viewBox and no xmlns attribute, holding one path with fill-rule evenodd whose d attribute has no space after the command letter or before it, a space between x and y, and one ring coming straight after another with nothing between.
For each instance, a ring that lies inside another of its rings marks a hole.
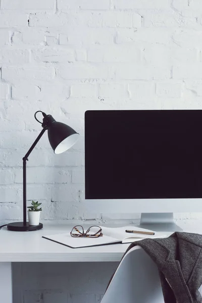
<instances>
[{"instance_id":1,"label":"tortoiseshell-framed eyeglasses lying on the open notebook","mask_svg":"<svg viewBox=\"0 0 202 303\"><path fill-rule=\"evenodd\" d=\"M98 238L103 236L102 228L96 225L89 227L86 232L84 232L83 226L76 225L72 228L70 234L74 238L77 237Z\"/></svg>"}]
</instances>

